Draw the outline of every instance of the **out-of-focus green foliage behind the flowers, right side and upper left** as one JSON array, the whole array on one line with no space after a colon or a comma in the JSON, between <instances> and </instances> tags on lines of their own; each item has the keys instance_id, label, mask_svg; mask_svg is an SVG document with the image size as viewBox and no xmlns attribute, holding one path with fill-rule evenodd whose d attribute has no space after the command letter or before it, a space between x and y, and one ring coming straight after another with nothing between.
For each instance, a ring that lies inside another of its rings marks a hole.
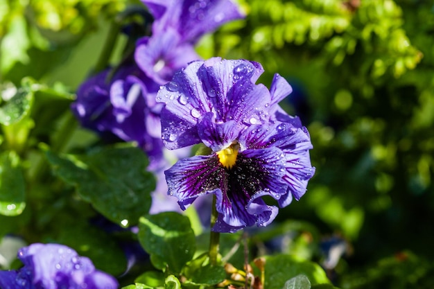
<instances>
[{"instance_id":1,"label":"out-of-focus green foliage behind the flowers, right side and upper left","mask_svg":"<svg viewBox=\"0 0 434 289\"><path fill-rule=\"evenodd\" d=\"M277 222L346 240L333 270L342 288L434 288L434 1L238 3L246 19L205 36L198 52L261 62L266 85L284 76L294 91L281 105L314 147L315 177ZM130 4L139 2L0 0L1 86L31 76L75 91Z\"/></svg>"}]
</instances>

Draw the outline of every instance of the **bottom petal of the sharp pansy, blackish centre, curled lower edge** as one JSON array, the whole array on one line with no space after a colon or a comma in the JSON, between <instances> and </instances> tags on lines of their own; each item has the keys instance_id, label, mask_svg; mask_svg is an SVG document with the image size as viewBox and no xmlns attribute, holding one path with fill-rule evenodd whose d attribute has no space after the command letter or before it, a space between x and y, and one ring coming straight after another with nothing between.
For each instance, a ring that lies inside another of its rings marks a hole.
<instances>
[{"instance_id":1,"label":"bottom petal of the sharp pansy, blackish centre, curled lower edge","mask_svg":"<svg viewBox=\"0 0 434 289\"><path fill-rule=\"evenodd\" d=\"M284 161L278 148L240 152L236 166L227 175L227 186L215 192L219 216L213 231L233 232L271 222L275 209L256 199L270 195L279 200L286 194L287 185L281 180Z\"/></svg>"}]
</instances>

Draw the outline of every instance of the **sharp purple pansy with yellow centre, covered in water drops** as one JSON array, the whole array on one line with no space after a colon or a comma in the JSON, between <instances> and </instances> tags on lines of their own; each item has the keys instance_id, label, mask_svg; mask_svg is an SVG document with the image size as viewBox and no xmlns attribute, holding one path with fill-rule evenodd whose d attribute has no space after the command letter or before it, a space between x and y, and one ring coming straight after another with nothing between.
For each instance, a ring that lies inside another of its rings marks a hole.
<instances>
[{"instance_id":1,"label":"sharp purple pansy with yellow centre, covered in water drops","mask_svg":"<svg viewBox=\"0 0 434 289\"><path fill-rule=\"evenodd\" d=\"M209 155L177 161L166 170L168 193L186 209L200 195L216 195L214 231L266 226L277 207L306 192L311 166L309 132L277 104L291 87L275 75L270 91L255 85L257 62L211 58L191 62L162 87L162 138L169 149L203 143Z\"/></svg>"}]
</instances>

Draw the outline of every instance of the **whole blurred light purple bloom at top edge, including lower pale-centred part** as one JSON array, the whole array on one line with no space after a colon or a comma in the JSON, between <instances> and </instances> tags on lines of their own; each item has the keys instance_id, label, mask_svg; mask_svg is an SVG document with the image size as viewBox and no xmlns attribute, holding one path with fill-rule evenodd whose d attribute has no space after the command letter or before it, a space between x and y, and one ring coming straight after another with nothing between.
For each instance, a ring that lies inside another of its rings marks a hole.
<instances>
[{"instance_id":1,"label":"whole blurred light purple bloom at top edge, including lower pale-centred part","mask_svg":"<svg viewBox=\"0 0 434 289\"><path fill-rule=\"evenodd\" d=\"M205 33L243 17L229 0L143 0L151 14L153 35L137 42L135 60L146 76L166 84L178 69L200 57L194 44Z\"/></svg>"}]
</instances>

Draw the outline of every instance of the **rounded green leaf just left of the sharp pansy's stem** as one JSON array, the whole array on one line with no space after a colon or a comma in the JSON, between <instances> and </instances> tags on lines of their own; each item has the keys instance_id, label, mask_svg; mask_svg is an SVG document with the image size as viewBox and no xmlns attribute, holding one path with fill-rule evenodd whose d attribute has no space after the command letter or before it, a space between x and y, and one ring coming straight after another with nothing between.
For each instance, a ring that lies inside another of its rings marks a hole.
<instances>
[{"instance_id":1,"label":"rounded green leaf just left of the sharp pansy's stem","mask_svg":"<svg viewBox=\"0 0 434 289\"><path fill-rule=\"evenodd\" d=\"M158 269L166 266L170 272L180 273L193 258L196 240L189 218L180 213L164 212L140 218L139 242Z\"/></svg>"}]
</instances>

